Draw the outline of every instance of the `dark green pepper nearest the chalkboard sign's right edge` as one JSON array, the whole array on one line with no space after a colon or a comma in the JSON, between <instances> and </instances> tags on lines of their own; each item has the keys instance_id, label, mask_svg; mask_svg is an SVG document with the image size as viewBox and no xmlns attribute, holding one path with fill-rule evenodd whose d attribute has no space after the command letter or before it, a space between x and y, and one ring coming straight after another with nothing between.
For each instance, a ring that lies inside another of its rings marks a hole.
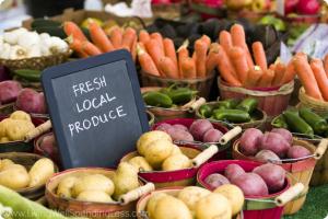
<instances>
[{"instance_id":1,"label":"dark green pepper nearest the chalkboard sign's right edge","mask_svg":"<svg viewBox=\"0 0 328 219\"><path fill-rule=\"evenodd\" d=\"M160 106L160 107L172 107L172 100L168 95L157 92L157 91L150 91L145 92L143 95L143 101L147 105L151 106Z\"/></svg>"}]
</instances>

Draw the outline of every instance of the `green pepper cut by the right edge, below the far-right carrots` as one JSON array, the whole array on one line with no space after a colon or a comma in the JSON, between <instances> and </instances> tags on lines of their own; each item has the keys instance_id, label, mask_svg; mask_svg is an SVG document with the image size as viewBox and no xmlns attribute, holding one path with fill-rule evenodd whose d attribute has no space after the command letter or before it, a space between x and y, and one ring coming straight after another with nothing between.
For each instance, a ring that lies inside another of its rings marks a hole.
<instances>
[{"instance_id":1,"label":"green pepper cut by the right edge, below the far-right carrots","mask_svg":"<svg viewBox=\"0 0 328 219\"><path fill-rule=\"evenodd\" d=\"M300 116L313 128L315 134L321 135L327 130L327 122L309 108L303 107L298 112Z\"/></svg>"}]
</instances>

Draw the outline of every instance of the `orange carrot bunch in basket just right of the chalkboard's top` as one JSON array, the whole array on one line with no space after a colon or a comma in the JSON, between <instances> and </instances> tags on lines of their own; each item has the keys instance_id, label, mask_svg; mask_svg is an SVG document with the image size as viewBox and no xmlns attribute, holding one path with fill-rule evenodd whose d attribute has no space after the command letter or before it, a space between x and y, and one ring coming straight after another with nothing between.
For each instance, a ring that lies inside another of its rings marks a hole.
<instances>
[{"instance_id":1,"label":"orange carrot bunch in basket just right of the chalkboard's top","mask_svg":"<svg viewBox=\"0 0 328 219\"><path fill-rule=\"evenodd\" d=\"M218 64L219 44L203 35L195 42L195 53L190 56L186 41L176 51L169 38L160 33L139 33L138 59L143 71L163 78L195 79L211 73Z\"/></svg>"}]
</instances>

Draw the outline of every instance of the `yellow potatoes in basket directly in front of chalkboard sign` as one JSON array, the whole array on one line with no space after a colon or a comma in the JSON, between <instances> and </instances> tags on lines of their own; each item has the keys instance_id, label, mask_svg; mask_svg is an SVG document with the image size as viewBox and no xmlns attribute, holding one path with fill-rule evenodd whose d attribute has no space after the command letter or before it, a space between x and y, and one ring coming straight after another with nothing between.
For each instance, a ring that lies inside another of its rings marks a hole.
<instances>
[{"instance_id":1,"label":"yellow potatoes in basket directly in front of chalkboard sign","mask_svg":"<svg viewBox=\"0 0 328 219\"><path fill-rule=\"evenodd\" d=\"M113 178L104 174L68 175L59 182L56 194L81 201L113 203L139 186L138 170L128 162L121 162Z\"/></svg>"}]
</instances>

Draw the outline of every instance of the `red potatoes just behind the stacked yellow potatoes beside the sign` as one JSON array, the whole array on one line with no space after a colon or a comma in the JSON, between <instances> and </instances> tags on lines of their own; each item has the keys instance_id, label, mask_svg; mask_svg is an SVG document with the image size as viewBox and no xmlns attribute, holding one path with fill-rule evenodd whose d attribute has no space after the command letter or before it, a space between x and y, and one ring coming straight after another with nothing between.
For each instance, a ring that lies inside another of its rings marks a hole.
<instances>
[{"instance_id":1,"label":"red potatoes just behind the stacked yellow potatoes beside the sign","mask_svg":"<svg viewBox=\"0 0 328 219\"><path fill-rule=\"evenodd\" d=\"M169 125L166 123L156 127L156 130L167 132L173 140L219 142L223 134L215 129L207 119L195 120L189 129L180 124Z\"/></svg>"}]
</instances>

